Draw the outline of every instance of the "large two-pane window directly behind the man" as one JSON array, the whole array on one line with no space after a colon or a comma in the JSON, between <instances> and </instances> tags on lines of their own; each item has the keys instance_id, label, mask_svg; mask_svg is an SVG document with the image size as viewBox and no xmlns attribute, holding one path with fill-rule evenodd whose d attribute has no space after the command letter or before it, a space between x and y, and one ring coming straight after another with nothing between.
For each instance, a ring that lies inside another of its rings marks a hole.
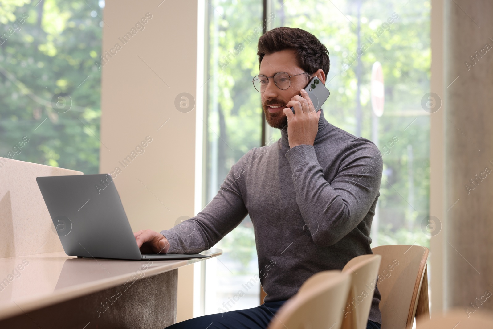
<instances>
[{"instance_id":1,"label":"large two-pane window directly behind the man","mask_svg":"<svg viewBox=\"0 0 493 329\"><path fill-rule=\"evenodd\" d=\"M261 0L214 0L207 6L207 202L231 165L262 145L260 96L250 81L258 74L256 42L264 14L268 29L305 29L327 46L331 95L323 106L325 118L372 140L382 152L371 246L428 246L430 234L422 223L428 224L429 212L430 110L422 104L430 84L430 2L268 0L263 8ZM376 62L384 80L381 116L374 114L371 102ZM266 142L280 138L278 129L265 122L264 128ZM245 288L258 271L249 218L217 247L224 254L207 261L206 314L258 306L259 287ZM238 298L240 291L245 296Z\"/></svg>"}]
</instances>

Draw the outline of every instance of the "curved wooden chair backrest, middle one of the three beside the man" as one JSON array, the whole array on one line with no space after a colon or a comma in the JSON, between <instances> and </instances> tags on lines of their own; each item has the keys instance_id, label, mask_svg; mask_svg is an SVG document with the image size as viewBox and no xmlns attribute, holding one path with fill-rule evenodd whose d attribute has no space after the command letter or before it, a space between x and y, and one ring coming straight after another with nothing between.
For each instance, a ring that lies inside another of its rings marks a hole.
<instances>
[{"instance_id":1,"label":"curved wooden chair backrest, middle one of the three beside the man","mask_svg":"<svg viewBox=\"0 0 493 329\"><path fill-rule=\"evenodd\" d=\"M357 256L342 269L343 273L351 275L342 329L366 329L381 259L380 255Z\"/></svg>"}]
</instances>

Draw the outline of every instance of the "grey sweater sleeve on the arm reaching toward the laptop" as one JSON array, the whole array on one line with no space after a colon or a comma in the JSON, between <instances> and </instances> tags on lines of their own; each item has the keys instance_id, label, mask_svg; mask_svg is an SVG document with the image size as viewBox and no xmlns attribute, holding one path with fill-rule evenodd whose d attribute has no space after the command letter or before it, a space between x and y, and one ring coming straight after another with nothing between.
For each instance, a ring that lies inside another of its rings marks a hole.
<instances>
[{"instance_id":1,"label":"grey sweater sleeve on the arm reaching toward the laptop","mask_svg":"<svg viewBox=\"0 0 493 329\"><path fill-rule=\"evenodd\" d=\"M248 211L239 182L252 150L231 167L217 194L197 216L160 232L170 243L168 254L198 254L208 250L246 217Z\"/></svg>"}]
</instances>

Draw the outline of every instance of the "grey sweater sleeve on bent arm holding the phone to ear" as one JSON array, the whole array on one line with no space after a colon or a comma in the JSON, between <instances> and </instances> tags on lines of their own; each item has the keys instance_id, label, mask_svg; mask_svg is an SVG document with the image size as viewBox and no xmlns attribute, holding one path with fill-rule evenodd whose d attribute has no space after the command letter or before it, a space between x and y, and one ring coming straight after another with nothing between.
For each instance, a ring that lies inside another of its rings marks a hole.
<instances>
[{"instance_id":1,"label":"grey sweater sleeve on bent arm holding the phone to ear","mask_svg":"<svg viewBox=\"0 0 493 329\"><path fill-rule=\"evenodd\" d=\"M383 161L368 140L353 140L332 182L324 179L314 146L298 145L286 154L301 215L317 245L331 246L367 215L382 179Z\"/></svg>"}]
</instances>

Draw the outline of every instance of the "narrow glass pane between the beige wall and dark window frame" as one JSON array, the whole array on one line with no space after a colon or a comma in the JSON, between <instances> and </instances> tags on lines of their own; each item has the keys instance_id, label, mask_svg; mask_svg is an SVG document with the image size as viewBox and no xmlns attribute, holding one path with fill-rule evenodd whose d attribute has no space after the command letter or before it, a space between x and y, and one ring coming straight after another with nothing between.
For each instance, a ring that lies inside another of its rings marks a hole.
<instances>
[{"instance_id":1,"label":"narrow glass pane between the beige wall and dark window frame","mask_svg":"<svg viewBox=\"0 0 493 329\"><path fill-rule=\"evenodd\" d=\"M261 146L262 108L251 81L258 74L256 47L262 35L262 1L212 0L206 7L209 21L205 85L206 201L209 202L231 166L248 150ZM249 217L214 247L222 249L223 255L206 261L205 313L258 306L260 283L248 284L255 274L258 276Z\"/></svg>"}]
</instances>

